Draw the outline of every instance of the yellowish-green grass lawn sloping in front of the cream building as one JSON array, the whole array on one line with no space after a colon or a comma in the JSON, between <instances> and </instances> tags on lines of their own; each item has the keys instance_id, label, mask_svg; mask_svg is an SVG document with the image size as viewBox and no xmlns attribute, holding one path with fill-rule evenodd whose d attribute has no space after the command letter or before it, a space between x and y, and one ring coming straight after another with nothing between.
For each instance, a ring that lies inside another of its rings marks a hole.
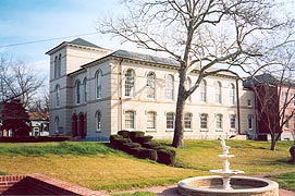
<instances>
[{"instance_id":1,"label":"yellowish-green grass lawn sloping in front of the cream building","mask_svg":"<svg viewBox=\"0 0 295 196\"><path fill-rule=\"evenodd\" d=\"M170 145L168 140L160 143ZM295 167L287 163L291 142L279 143L276 151L269 150L269 143L261 142L228 140L226 145L235 155L231 169L244 170L246 175L295 172ZM176 149L179 168L173 168L133 158L105 143L2 143L0 174L42 173L91 189L111 192L209 175L208 170L222 168L219 154L222 154L220 140L185 140L185 149ZM286 186L294 188L292 182Z\"/></svg>"}]
</instances>

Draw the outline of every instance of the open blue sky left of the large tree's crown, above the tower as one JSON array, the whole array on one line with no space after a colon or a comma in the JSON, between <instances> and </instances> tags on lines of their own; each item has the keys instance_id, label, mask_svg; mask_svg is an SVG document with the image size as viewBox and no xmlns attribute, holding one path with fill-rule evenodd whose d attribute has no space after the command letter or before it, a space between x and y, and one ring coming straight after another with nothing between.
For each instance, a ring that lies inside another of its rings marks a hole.
<instances>
[{"instance_id":1,"label":"open blue sky left of the large tree's crown, above the tower","mask_svg":"<svg viewBox=\"0 0 295 196\"><path fill-rule=\"evenodd\" d=\"M131 46L96 29L99 20L122 10L120 0L0 0L0 56L26 61L49 75L45 52L62 41L81 37L102 48L126 49Z\"/></svg>"}]
</instances>

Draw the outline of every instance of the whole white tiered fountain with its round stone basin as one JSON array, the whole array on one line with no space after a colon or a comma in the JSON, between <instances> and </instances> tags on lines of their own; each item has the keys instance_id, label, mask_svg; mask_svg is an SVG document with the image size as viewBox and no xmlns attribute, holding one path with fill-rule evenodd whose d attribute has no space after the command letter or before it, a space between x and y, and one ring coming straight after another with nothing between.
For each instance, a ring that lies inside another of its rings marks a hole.
<instances>
[{"instance_id":1,"label":"whole white tiered fountain with its round stone basin","mask_svg":"<svg viewBox=\"0 0 295 196\"><path fill-rule=\"evenodd\" d=\"M221 139L223 169L210 170L217 175L197 176L179 182L179 192L183 196L279 196L278 183L260 177L234 176L242 170L230 169L230 147Z\"/></svg>"}]
</instances>

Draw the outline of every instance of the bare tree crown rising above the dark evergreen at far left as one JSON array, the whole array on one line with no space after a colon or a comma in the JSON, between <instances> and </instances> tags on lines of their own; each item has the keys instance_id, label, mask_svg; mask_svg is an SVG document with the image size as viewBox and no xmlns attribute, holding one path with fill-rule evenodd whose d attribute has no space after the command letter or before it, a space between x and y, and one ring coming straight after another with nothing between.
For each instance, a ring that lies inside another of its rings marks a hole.
<instances>
[{"instance_id":1,"label":"bare tree crown rising above the dark evergreen at far left","mask_svg":"<svg viewBox=\"0 0 295 196\"><path fill-rule=\"evenodd\" d=\"M0 101L20 99L27 107L44 78L24 61L14 61L1 56L0 61Z\"/></svg>"}]
</instances>

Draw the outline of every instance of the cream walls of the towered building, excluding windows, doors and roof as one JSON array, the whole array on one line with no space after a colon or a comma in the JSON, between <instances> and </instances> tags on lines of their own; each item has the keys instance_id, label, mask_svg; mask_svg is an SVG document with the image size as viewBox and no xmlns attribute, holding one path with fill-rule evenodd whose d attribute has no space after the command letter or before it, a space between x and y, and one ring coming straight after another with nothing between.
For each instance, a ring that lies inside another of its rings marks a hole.
<instances>
[{"instance_id":1,"label":"cream walls of the towered building, excluding windows, doors and roof","mask_svg":"<svg viewBox=\"0 0 295 196\"><path fill-rule=\"evenodd\" d=\"M66 76L78 69L81 63L96 59L98 56L87 53L88 50L83 51L81 48L62 49L63 53L62 68L63 76L59 79L50 81L50 132L53 133L54 117L60 118L60 125L64 133L71 135L72 132L72 114L87 113L87 138L88 139L106 139L110 134L115 134L119 130L125 130L126 111L135 111L135 128L136 131L145 131L147 134L156 138L172 138L173 130L167 130L167 113L174 112L176 106L179 75L175 69L160 68L155 64L143 64L134 61L127 61L115 58L109 58L106 61L89 64L85 70ZM64 56L66 54L66 58ZM52 54L53 57L54 54ZM51 74L53 73L51 57ZM65 60L66 59L66 60ZM125 73L128 69L135 71L135 97L127 98L124 96L125 88ZM96 98L95 89L95 74L98 70L102 71L102 97ZM147 98L147 74L152 71L156 74L156 98ZM174 77L174 100L165 99L165 78L171 74ZM189 73L192 83L197 79L196 73ZM84 102L83 81L87 78L87 103ZM81 81L81 103L76 105L75 100L75 82ZM222 86L222 101L216 103L214 100L214 84L221 83ZM186 102L185 113L192 113L192 128L185 131L186 138L199 139L216 139L219 137L229 138L232 135L238 134L255 134L255 108L254 108L254 93L244 90L242 82L238 82L238 97L239 97L239 115L237 110L237 101L232 106L230 102L230 84L236 86L236 81L233 76L216 75L206 77L207 82L207 101L200 101L199 88L190 96L190 101ZM54 107L54 87L59 84L61 86L60 107ZM237 95L235 95L236 97ZM237 97L236 97L237 98ZM251 100L251 106L248 106L248 99ZM237 100L237 99L236 99ZM96 112L101 112L101 131L96 130ZM153 131L147 130L147 112L153 111L157 114L156 128ZM208 114L208 128L200 128L200 114ZM222 130L216 128L216 115L222 114ZM236 127L231 130L230 115L236 115ZM253 130L248 128L248 115L254 115ZM239 121L238 121L239 117ZM238 122L239 131L238 131Z\"/></svg>"}]
</instances>

